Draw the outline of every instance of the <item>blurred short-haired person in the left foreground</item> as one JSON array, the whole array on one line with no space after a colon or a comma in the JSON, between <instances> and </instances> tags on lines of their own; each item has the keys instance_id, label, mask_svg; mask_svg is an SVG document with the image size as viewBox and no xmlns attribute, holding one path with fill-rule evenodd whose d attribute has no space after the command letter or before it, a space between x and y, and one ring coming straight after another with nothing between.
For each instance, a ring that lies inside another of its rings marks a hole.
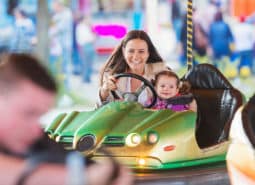
<instances>
[{"instance_id":1,"label":"blurred short-haired person in the left foreground","mask_svg":"<svg viewBox=\"0 0 255 185\"><path fill-rule=\"evenodd\" d=\"M37 58L18 53L0 56L1 184L66 184L68 172L62 163L67 151L39 124L40 116L54 105L56 91L55 81ZM88 185L131 185L133 176L123 166L113 176L115 165L104 160L81 173Z\"/></svg>"}]
</instances>

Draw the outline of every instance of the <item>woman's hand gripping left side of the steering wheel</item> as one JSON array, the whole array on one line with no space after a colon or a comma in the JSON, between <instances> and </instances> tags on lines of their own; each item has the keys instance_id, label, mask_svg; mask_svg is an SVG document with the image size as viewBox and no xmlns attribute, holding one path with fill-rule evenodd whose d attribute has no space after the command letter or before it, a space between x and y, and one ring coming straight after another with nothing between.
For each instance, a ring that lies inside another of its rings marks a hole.
<instances>
[{"instance_id":1,"label":"woman's hand gripping left side of the steering wheel","mask_svg":"<svg viewBox=\"0 0 255 185\"><path fill-rule=\"evenodd\" d=\"M102 87L100 88L100 97L103 101L109 96L110 91L114 91L117 89L116 78L113 76L107 77L107 79L103 82Z\"/></svg>"}]
</instances>

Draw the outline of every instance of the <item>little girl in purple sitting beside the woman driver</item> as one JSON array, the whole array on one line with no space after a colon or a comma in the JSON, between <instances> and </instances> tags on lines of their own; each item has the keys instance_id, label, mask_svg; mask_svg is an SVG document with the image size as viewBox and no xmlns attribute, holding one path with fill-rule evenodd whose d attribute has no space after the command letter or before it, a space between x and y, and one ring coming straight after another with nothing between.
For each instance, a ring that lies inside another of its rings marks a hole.
<instances>
[{"instance_id":1,"label":"little girl in purple sitting beside the woman driver","mask_svg":"<svg viewBox=\"0 0 255 185\"><path fill-rule=\"evenodd\" d=\"M170 109L173 111L196 110L193 96L187 94L190 86L188 84L180 86L180 79L174 72L161 71L157 73L153 84L158 95L157 101L153 106L154 109ZM181 97L183 94L186 94L185 97Z\"/></svg>"}]
</instances>

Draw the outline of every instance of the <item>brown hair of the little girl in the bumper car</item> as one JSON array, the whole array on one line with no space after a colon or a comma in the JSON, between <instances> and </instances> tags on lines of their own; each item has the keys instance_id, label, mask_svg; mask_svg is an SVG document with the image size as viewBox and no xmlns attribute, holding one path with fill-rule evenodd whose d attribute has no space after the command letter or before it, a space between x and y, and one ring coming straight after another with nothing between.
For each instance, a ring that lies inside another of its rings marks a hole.
<instances>
[{"instance_id":1,"label":"brown hair of the little girl in the bumper car","mask_svg":"<svg viewBox=\"0 0 255 185\"><path fill-rule=\"evenodd\" d=\"M168 77L174 77L176 79L176 85L179 88L180 94L187 94L190 91L191 85L189 82L184 81L181 82L178 75L173 71L160 71L155 75L155 80L152 80L152 84L155 86L158 83L158 80L161 76L168 76Z\"/></svg>"}]
</instances>

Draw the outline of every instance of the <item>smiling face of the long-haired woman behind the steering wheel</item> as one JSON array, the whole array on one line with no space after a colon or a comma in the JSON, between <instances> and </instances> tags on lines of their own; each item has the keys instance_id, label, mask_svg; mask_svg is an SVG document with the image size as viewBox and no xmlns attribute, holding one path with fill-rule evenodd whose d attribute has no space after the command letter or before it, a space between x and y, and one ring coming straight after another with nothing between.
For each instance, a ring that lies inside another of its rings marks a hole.
<instances>
[{"instance_id":1,"label":"smiling face of the long-haired woman behind the steering wheel","mask_svg":"<svg viewBox=\"0 0 255 185\"><path fill-rule=\"evenodd\" d=\"M145 64L149 58L148 45L141 39L133 39L123 47L123 55L129 66L129 72L142 75Z\"/></svg>"}]
</instances>

